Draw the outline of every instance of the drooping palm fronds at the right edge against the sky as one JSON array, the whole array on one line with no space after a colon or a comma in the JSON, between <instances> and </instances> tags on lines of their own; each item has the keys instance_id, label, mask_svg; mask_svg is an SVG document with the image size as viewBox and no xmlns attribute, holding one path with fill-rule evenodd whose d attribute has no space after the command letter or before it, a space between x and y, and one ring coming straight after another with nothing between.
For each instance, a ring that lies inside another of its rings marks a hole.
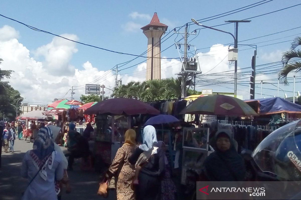
<instances>
[{"instance_id":1,"label":"drooping palm fronds at the right edge against the sky","mask_svg":"<svg viewBox=\"0 0 301 200\"><path fill-rule=\"evenodd\" d=\"M282 83L284 83L284 85L288 85L287 75L291 71L296 70L296 73L301 71L301 62L299 61L299 59L294 59L301 58L300 49L296 49L300 45L301 37L296 37L290 46L290 50L282 54L283 68L281 72L279 72L278 78L281 80ZM294 60L291 61L291 59Z\"/></svg>"}]
</instances>

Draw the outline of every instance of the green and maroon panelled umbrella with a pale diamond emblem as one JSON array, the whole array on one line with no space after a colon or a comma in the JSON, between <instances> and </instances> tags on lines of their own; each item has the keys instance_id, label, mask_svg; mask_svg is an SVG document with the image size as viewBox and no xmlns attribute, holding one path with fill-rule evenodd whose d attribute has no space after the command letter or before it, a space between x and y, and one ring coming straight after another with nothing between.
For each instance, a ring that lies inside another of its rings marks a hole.
<instances>
[{"instance_id":1,"label":"green and maroon panelled umbrella with a pale diamond emblem","mask_svg":"<svg viewBox=\"0 0 301 200\"><path fill-rule=\"evenodd\" d=\"M257 113L244 101L221 94L198 98L183 109L181 113L219 116L257 116Z\"/></svg>"}]
</instances>

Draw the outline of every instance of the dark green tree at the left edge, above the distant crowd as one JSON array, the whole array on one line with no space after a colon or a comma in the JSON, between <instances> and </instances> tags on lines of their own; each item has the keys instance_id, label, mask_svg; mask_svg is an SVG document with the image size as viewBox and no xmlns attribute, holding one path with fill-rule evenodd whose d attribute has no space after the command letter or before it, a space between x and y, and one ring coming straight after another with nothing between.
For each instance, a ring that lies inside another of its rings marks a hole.
<instances>
[{"instance_id":1,"label":"dark green tree at the left edge, above the distant crowd","mask_svg":"<svg viewBox=\"0 0 301 200\"><path fill-rule=\"evenodd\" d=\"M2 61L0 58L0 64ZM3 119L3 115L5 115L9 121L15 119L16 106L19 107L22 101L20 100L17 105L17 101L21 98L20 92L12 88L8 81L3 81L4 78L9 79L12 72L14 71L0 69L0 119Z\"/></svg>"}]
</instances>

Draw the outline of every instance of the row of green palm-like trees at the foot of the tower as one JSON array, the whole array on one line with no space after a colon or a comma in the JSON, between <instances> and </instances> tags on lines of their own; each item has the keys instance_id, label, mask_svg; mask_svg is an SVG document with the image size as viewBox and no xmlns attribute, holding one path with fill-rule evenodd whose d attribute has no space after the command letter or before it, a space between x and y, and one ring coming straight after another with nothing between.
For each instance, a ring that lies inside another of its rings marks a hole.
<instances>
[{"instance_id":1,"label":"row of green palm-like trees at the foot of the tower","mask_svg":"<svg viewBox=\"0 0 301 200\"><path fill-rule=\"evenodd\" d=\"M181 97L181 81L182 77L143 82L131 81L115 88L111 97L134 98L144 102L178 99Z\"/></svg>"}]
</instances>

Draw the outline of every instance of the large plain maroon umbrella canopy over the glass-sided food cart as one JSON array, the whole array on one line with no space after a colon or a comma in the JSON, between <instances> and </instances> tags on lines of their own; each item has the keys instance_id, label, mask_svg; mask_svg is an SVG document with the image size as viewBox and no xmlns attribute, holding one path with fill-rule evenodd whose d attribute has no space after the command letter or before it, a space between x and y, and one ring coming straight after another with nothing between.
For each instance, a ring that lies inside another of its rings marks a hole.
<instances>
[{"instance_id":1,"label":"large plain maroon umbrella canopy over the glass-sided food cart","mask_svg":"<svg viewBox=\"0 0 301 200\"><path fill-rule=\"evenodd\" d=\"M137 99L113 98L96 103L86 109L85 114L113 114L113 115L160 115L159 110Z\"/></svg>"}]
</instances>

